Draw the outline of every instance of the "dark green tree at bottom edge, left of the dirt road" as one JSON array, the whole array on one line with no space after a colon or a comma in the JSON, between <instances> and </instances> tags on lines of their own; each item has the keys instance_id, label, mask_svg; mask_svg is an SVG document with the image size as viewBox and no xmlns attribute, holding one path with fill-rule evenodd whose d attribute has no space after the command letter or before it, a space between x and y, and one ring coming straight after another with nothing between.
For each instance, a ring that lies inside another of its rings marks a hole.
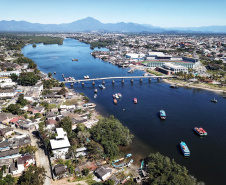
<instances>
[{"instance_id":1,"label":"dark green tree at bottom edge, left of the dirt road","mask_svg":"<svg viewBox=\"0 0 226 185\"><path fill-rule=\"evenodd\" d=\"M29 166L28 170L20 176L18 184L21 185L43 185L46 178L44 167Z\"/></svg>"}]
</instances>

